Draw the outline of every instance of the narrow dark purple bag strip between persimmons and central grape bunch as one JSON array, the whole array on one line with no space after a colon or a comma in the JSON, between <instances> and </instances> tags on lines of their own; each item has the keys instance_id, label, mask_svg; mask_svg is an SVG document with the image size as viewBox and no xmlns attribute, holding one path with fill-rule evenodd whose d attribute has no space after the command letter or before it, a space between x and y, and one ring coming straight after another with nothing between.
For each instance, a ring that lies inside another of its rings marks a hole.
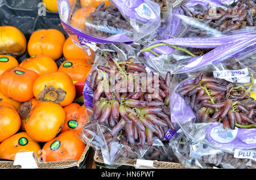
<instances>
[{"instance_id":1,"label":"narrow dark purple bag strip between persimmons and central grape bunch","mask_svg":"<svg viewBox=\"0 0 256 180\"><path fill-rule=\"evenodd\" d=\"M84 95L84 105L90 108L93 108L93 91L90 88L90 75L86 78L84 83L84 90L82 94Z\"/></svg>"}]
</instances>

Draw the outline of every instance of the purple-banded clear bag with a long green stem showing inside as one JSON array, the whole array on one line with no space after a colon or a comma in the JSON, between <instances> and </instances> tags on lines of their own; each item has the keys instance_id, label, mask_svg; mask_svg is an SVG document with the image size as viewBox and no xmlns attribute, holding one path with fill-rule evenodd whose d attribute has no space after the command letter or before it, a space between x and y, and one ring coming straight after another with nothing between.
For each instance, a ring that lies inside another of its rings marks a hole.
<instances>
[{"instance_id":1,"label":"purple-banded clear bag with a long green stem showing inside","mask_svg":"<svg viewBox=\"0 0 256 180\"><path fill-rule=\"evenodd\" d=\"M142 48L141 54L145 62L157 71L176 72L180 64L187 62L189 59L199 59L207 55L211 50L225 45L236 43L255 38L255 31L250 33L238 33L227 35L225 37L181 37L158 40ZM237 45L240 48L243 48ZM250 46L249 43L246 46ZM235 47L237 48L237 47ZM251 48L251 47L250 47Z\"/></svg>"}]
</instances>

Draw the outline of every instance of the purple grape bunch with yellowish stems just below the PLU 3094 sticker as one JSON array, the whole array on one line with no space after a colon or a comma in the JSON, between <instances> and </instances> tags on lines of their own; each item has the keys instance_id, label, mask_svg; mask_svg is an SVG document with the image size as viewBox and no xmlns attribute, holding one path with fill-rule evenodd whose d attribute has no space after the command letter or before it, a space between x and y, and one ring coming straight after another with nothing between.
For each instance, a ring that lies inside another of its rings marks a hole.
<instances>
[{"instance_id":1,"label":"purple grape bunch with yellowish stems just below the PLU 3094 sticker","mask_svg":"<svg viewBox=\"0 0 256 180\"><path fill-rule=\"evenodd\" d=\"M222 122L224 128L256 127L256 101L250 97L251 83L238 85L201 72L192 84L182 85L177 93L191 106L197 122Z\"/></svg>"}]
</instances>

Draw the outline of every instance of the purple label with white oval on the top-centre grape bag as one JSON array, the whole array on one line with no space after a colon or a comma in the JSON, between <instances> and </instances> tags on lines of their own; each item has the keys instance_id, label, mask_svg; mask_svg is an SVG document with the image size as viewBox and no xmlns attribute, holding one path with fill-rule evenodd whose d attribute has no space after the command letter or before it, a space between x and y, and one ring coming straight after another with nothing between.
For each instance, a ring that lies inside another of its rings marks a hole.
<instances>
[{"instance_id":1,"label":"purple label with white oval on the top-centre grape bag","mask_svg":"<svg viewBox=\"0 0 256 180\"><path fill-rule=\"evenodd\" d=\"M112 0L118 10L129 18L134 18L142 22L151 22L159 18L158 12L144 0ZM156 7L159 7L155 3ZM160 7L159 7L160 10Z\"/></svg>"}]
</instances>

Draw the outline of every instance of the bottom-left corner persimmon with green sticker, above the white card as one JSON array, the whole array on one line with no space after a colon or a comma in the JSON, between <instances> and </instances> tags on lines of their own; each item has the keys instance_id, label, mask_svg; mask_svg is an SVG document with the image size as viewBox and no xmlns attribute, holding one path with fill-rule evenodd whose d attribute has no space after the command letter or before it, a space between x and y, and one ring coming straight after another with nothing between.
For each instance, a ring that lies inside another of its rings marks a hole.
<instances>
[{"instance_id":1,"label":"bottom-left corner persimmon with green sticker, above the white card","mask_svg":"<svg viewBox=\"0 0 256 180\"><path fill-rule=\"evenodd\" d=\"M34 151L36 156L41 155L38 142L28 136L27 132L19 132L0 144L0 158L14 161L18 152Z\"/></svg>"}]
</instances>

